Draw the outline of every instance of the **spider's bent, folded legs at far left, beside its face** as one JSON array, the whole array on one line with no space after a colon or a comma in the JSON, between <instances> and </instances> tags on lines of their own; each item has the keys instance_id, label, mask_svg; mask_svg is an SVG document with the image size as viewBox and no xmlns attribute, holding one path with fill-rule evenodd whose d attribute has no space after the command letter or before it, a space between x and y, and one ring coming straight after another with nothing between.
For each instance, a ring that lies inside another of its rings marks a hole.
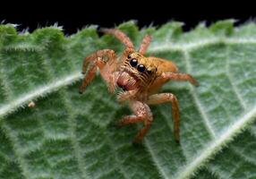
<instances>
[{"instance_id":1,"label":"spider's bent, folded legs at far left, beside its face","mask_svg":"<svg viewBox=\"0 0 256 179\"><path fill-rule=\"evenodd\" d=\"M107 60L105 59L107 57ZM100 75L108 83L108 90L113 92L115 90L115 78L117 67L117 58L115 52L111 49L98 50L97 52L88 55L82 65L82 73L85 75L79 92L82 93L93 80L97 69L100 70Z\"/></svg>"}]
</instances>

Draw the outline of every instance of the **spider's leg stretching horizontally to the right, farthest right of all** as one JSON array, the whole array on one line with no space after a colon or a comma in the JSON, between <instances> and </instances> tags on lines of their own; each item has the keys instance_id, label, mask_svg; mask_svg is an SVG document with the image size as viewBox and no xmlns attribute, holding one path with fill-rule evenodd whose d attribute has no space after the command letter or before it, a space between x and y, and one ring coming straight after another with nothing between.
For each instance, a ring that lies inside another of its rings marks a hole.
<instances>
[{"instance_id":1,"label":"spider's leg stretching horizontally to the right, farthest right of all","mask_svg":"<svg viewBox=\"0 0 256 179\"><path fill-rule=\"evenodd\" d=\"M196 81L192 75L187 73L163 72L161 77L163 79L170 79L174 81L190 81L193 85L198 86L198 81Z\"/></svg>"}]
</instances>

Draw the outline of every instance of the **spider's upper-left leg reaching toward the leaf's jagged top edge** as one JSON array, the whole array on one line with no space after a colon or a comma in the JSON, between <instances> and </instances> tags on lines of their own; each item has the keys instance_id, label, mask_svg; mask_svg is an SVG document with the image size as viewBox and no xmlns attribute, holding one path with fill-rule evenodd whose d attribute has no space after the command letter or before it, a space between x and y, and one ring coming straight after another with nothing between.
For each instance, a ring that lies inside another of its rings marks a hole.
<instances>
[{"instance_id":1,"label":"spider's upper-left leg reaching toward the leaf's jagged top edge","mask_svg":"<svg viewBox=\"0 0 256 179\"><path fill-rule=\"evenodd\" d=\"M128 36L126 36L126 34L124 34L124 32L121 30L102 28L99 31L112 34L115 36L115 38L118 38L126 47L134 48L131 39L128 38Z\"/></svg>"}]
</instances>

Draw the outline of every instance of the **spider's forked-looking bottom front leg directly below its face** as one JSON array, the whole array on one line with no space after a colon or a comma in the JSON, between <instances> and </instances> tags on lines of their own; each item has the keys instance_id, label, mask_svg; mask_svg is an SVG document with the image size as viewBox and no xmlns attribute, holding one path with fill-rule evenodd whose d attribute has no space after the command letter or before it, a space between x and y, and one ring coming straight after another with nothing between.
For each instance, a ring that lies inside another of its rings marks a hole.
<instances>
[{"instance_id":1,"label":"spider's forked-looking bottom front leg directly below its face","mask_svg":"<svg viewBox=\"0 0 256 179\"><path fill-rule=\"evenodd\" d=\"M137 133L136 137L133 140L133 143L138 143L149 131L150 125L153 121L153 116L149 106L145 103L142 103L141 101L131 101L130 107L134 115L124 116L124 118L119 121L118 125L122 126L127 124L144 122L144 127Z\"/></svg>"}]
</instances>

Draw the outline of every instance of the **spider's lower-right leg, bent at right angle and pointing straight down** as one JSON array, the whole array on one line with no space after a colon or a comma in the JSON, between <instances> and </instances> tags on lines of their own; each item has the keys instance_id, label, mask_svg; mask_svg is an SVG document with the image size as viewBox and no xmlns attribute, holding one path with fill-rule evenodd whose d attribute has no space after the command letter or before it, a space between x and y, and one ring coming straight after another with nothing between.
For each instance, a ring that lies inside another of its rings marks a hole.
<instances>
[{"instance_id":1,"label":"spider's lower-right leg, bent at right angle and pointing straight down","mask_svg":"<svg viewBox=\"0 0 256 179\"><path fill-rule=\"evenodd\" d=\"M172 104L172 115L174 117L174 134L175 141L180 141L180 115L179 115L179 106L178 100L172 93L161 93L149 96L147 104L149 105L158 105L161 103L171 102Z\"/></svg>"}]
</instances>

